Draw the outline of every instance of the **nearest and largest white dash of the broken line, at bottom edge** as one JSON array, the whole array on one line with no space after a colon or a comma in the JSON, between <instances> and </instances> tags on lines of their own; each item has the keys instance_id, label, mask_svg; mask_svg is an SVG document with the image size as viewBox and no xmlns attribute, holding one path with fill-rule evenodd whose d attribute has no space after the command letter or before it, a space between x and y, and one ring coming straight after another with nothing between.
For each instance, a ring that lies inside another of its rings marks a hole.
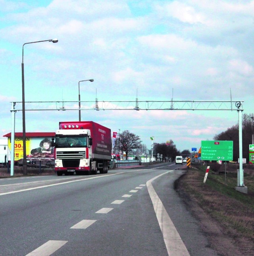
<instances>
[{"instance_id":1,"label":"nearest and largest white dash of the broken line, at bottom edge","mask_svg":"<svg viewBox=\"0 0 254 256\"><path fill-rule=\"evenodd\" d=\"M49 240L47 243L42 244L40 247L33 250L33 252L30 252L26 256L49 256L67 242L68 241Z\"/></svg>"}]
</instances>

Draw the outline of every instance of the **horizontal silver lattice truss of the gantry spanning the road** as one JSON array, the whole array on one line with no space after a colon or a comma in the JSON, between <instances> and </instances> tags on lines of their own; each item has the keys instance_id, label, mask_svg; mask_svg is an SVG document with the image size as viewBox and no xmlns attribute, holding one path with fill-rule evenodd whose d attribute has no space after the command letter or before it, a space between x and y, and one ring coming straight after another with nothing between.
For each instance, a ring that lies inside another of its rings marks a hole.
<instances>
[{"instance_id":1,"label":"horizontal silver lattice truss of the gantry spanning the road","mask_svg":"<svg viewBox=\"0 0 254 256\"><path fill-rule=\"evenodd\" d=\"M239 101L208 100L141 100L135 101L31 101L25 102L25 110L241 110ZM11 111L21 111L22 102L12 102Z\"/></svg>"}]
</instances>

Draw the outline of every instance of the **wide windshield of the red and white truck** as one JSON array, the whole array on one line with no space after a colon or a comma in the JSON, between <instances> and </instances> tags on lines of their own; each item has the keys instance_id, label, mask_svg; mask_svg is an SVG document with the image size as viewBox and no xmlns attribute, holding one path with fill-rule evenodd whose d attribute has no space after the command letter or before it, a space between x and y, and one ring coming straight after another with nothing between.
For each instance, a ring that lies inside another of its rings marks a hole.
<instances>
[{"instance_id":1,"label":"wide windshield of the red and white truck","mask_svg":"<svg viewBox=\"0 0 254 256\"><path fill-rule=\"evenodd\" d=\"M87 147L87 136L79 137L73 135L56 136L56 146L58 148L67 147Z\"/></svg>"}]
</instances>

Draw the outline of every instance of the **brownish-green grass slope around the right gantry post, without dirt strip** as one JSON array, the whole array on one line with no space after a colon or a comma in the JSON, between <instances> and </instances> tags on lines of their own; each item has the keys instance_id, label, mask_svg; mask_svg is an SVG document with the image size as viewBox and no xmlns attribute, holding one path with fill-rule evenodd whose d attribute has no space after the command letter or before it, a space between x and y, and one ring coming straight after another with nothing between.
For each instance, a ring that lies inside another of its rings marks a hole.
<instances>
[{"instance_id":1,"label":"brownish-green grass slope around the right gantry post, without dirt strip","mask_svg":"<svg viewBox=\"0 0 254 256\"><path fill-rule=\"evenodd\" d=\"M244 174L248 194L235 190L237 173L214 173L209 171L206 183L205 166L188 169L181 180L181 188L194 197L199 206L220 223L229 233L241 234L254 241L254 175Z\"/></svg>"}]
</instances>

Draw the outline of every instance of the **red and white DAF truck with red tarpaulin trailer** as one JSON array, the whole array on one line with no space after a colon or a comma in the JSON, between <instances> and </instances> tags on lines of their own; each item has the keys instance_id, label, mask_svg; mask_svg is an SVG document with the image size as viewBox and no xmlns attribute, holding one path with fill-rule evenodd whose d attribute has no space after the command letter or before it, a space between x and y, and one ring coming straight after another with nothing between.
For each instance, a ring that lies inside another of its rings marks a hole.
<instances>
[{"instance_id":1,"label":"red and white DAF truck with red tarpaulin trailer","mask_svg":"<svg viewBox=\"0 0 254 256\"><path fill-rule=\"evenodd\" d=\"M58 176L108 173L111 130L93 121L59 122L55 139L55 171Z\"/></svg>"}]
</instances>

